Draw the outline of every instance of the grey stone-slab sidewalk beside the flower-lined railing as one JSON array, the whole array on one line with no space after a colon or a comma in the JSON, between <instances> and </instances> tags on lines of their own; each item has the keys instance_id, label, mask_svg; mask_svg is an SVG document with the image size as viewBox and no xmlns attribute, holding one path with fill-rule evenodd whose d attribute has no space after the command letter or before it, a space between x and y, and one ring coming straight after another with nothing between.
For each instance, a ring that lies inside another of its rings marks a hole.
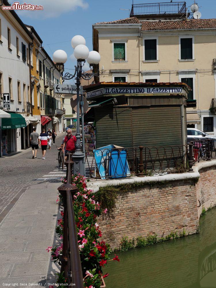
<instances>
[{"instance_id":1,"label":"grey stone-slab sidewalk beside the flower-lined railing","mask_svg":"<svg viewBox=\"0 0 216 288\"><path fill-rule=\"evenodd\" d=\"M46 248L56 241L60 185L43 182L29 186L1 222L0 287L6 286L3 283L18 283L15 287L33 287L32 283L45 286L47 275L54 279L58 264L50 262Z\"/></svg>"}]
</instances>

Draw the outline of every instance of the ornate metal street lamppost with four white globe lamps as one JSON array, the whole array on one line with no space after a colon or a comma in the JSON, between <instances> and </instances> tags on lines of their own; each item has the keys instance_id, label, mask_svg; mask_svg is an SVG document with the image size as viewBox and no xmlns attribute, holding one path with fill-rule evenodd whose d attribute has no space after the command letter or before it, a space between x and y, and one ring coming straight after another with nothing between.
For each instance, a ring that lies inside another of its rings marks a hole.
<instances>
[{"instance_id":1,"label":"ornate metal street lamppost with four white globe lamps","mask_svg":"<svg viewBox=\"0 0 216 288\"><path fill-rule=\"evenodd\" d=\"M81 101L79 99L79 86L80 86L80 79L91 79L95 74L92 73L83 73L82 67L84 66L84 63L87 61L90 67L93 67L93 65L97 65L100 60L101 56L96 51L90 51L88 50L88 47L85 45L86 40L81 35L76 35L71 39L71 46L74 48L74 56L77 59L77 66L75 66L75 73L70 74L69 72L65 73L65 76L63 76L63 70L64 70L64 64L67 61L67 54L64 50L56 50L53 53L53 61L56 63L57 67L61 71L62 78L65 80L70 80L75 77L76 79L76 86L77 86L77 132L76 132L76 151L73 154L73 161L74 161L74 174L85 174L85 151L82 151L81 149L81 143L80 143L80 128L79 128L79 107L81 105L81 114L82 114L82 126L83 126L83 105L84 102L82 101L82 95L81 95ZM92 68L91 68L92 70ZM84 134L83 141L85 141Z\"/></svg>"}]
</instances>

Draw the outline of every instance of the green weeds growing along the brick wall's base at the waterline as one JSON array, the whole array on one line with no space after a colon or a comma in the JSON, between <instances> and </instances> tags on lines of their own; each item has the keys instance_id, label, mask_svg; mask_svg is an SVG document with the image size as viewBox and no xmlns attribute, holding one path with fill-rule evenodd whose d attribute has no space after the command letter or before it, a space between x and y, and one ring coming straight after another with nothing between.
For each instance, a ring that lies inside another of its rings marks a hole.
<instances>
[{"instance_id":1,"label":"green weeds growing along the brick wall's base at the waterline","mask_svg":"<svg viewBox=\"0 0 216 288\"><path fill-rule=\"evenodd\" d=\"M175 240L177 238L184 237L185 235L186 235L185 229L183 229L182 232L179 232L179 234L177 231L171 232L165 238L164 237L158 238L157 234L153 234L153 235L148 234L147 237L142 237L142 236L137 237L136 245L135 245L134 238L132 240L129 240L128 237L123 237L119 245L119 251L125 252L135 247L143 248L145 246L154 245L156 243L164 242L166 240ZM117 251L117 249L115 249L115 251Z\"/></svg>"}]
</instances>

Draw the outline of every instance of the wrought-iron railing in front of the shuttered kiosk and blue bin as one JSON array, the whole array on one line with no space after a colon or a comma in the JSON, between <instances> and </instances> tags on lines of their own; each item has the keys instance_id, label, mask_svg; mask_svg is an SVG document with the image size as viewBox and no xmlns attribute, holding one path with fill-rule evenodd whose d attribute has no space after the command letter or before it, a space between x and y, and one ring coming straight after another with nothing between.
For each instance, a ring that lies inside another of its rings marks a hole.
<instances>
[{"instance_id":1,"label":"wrought-iron railing in front of the shuttered kiosk and blue bin","mask_svg":"<svg viewBox=\"0 0 216 288\"><path fill-rule=\"evenodd\" d=\"M113 179L187 170L187 145L96 149L86 153L86 176Z\"/></svg>"}]
</instances>

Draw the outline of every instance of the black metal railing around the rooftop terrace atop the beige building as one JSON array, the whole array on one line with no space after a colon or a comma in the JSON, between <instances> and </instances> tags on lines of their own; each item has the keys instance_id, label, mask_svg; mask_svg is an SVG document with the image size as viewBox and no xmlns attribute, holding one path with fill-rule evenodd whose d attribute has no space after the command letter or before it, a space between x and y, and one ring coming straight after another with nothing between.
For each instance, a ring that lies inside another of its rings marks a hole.
<instances>
[{"instance_id":1,"label":"black metal railing around the rooftop terrace atop the beige building","mask_svg":"<svg viewBox=\"0 0 216 288\"><path fill-rule=\"evenodd\" d=\"M136 15L184 14L186 2L132 4L130 17Z\"/></svg>"}]
</instances>

